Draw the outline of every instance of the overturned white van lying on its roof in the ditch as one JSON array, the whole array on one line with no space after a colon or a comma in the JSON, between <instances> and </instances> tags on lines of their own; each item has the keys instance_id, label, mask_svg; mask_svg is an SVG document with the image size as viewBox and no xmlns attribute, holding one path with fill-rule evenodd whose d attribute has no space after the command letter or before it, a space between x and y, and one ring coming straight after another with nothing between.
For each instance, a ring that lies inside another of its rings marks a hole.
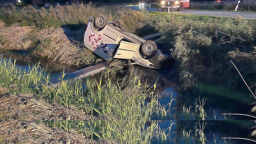
<instances>
[{"instance_id":1,"label":"overturned white van lying on its roof in the ditch","mask_svg":"<svg viewBox=\"0 0 256 144\"><path fill-rule=\"evenodd\" d=\"M111 22L104 15L89 17L84 45L105 60L128 59L130 64L150 68L160 68L160 63L168 57L157 48L155 42L129 33L123 29L120 20Z\"/></svg>"}]
</instances>

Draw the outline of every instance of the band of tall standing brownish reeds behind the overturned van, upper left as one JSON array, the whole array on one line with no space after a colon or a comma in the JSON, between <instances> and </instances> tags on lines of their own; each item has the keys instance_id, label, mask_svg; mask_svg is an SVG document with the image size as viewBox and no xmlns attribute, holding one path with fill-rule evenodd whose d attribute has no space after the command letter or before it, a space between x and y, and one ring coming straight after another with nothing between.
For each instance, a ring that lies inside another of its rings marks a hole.
<instances>
[{"instance_id":1,"label":"band of tall standing brownish reeds behind the overturned van, upper left","mask_svg":"<svg viewBox=\"0 0 256 144\"><path fill-rule=\"evenodd\" d=\"M144 23L143 19L145 12L134 11L124 7L98 7L91 8L86 5L69 5L69 6L52 6L49 11L45 8L35 10L34 7L24 7L20 11L16 8L1 9L0 19L7 25L11 26L14 23L21 23L23 26L33 25L38 29L45 29L50 27L59 27L65 24L87 24L88 17L96 17L99 14L104 14L108 20L113 21L120 19L124 23L124 28L130 32L135 32L140 28L140 24Z\"/></svg>"}]
</instances>

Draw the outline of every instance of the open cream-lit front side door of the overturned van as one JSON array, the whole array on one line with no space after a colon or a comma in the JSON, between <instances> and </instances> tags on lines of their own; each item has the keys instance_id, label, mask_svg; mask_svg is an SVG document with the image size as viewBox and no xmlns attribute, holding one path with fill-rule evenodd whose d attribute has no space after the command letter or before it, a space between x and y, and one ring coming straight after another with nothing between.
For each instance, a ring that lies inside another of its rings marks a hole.
<instances>
[{"instance_id":1,"label":"open cream-lit front side door of the overturned van","mask_svg":"<svg viewBox=\"0 0 256 144\"><path fill-rule=\"evenodd\" d=\"M114 58L118 59L132 59L138 44L121 41Z\"/></svg>"}]
</instances>

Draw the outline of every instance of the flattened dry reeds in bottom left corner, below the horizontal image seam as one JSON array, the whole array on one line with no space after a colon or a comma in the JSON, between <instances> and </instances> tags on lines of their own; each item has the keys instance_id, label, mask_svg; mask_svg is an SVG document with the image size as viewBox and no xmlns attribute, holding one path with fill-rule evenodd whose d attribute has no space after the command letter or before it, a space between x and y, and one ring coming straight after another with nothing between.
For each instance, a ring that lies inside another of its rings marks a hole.
<instances>
[{"instance_id":1,"label":"flattened dry reeds in bottom left corner, below the horizontal image seam","mask_svg":"<svg viewBox=\"0 0 256 144\"><path fill-rule=\"evenodd\" d=\"M58 128L49 128L43 123L28 121L2 121L0 122L0 137L6 143L102 143L86 139L76 130L65 131Z\"/></svg>"}]
</instances>

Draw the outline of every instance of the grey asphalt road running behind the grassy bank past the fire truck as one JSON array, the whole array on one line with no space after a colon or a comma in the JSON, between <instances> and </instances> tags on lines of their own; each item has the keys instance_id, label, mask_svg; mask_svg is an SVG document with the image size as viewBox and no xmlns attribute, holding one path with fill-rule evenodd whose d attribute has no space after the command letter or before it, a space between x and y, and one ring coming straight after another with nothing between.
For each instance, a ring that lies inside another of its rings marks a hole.
<instances>
[{"instance_id":1,"label":"grey asphalt road running behind the grassy bank past the fire truck","mask_svg":"<svg viewBox=\"0 0 256 144\"><path fill-rule=\"evenodd\" d=\"M129 7L133 10L141 10L141 6L133 6ZM145 8L145 7L144 7ZM160 11L162 12L161 9L157 10L157 8L146 8L148 11ZM165 10L164 12L168 12ZM214 15L214 16L226 16L226 17L235 17L237 15L242 16L243 18L253 18L256 19L256 13L251 14L249 12L229 12L229 11L203 11L203 10L183 10L183 11L175 11L180 14L192 14L192 15Z\"/></svg>"}]
</instances>

